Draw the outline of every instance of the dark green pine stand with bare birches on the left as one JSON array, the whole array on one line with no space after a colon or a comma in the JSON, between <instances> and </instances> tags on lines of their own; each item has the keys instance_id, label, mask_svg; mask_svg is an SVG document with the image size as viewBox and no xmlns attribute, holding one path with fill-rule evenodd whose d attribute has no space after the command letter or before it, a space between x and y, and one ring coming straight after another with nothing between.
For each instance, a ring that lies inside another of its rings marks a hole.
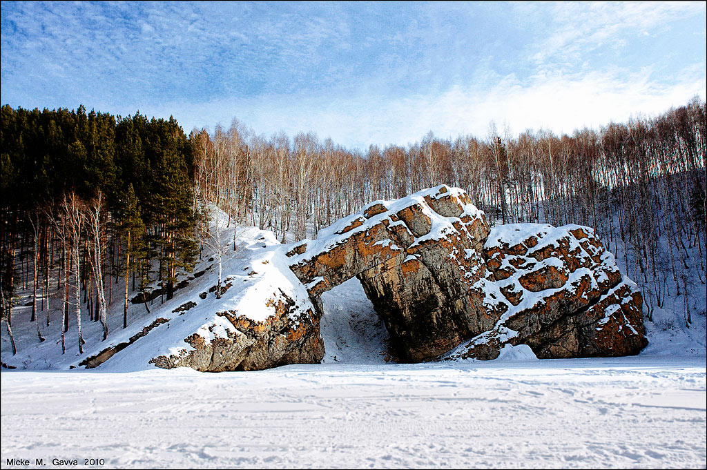
<instances>
[{"instance_id":1,"label":"dark green pine stand with bare birches on the left","mask_svg":"<svg viewBox=\"0 0 707 470\"><path fill-rule=\"evenodd\" d=\"M39 341L54 300L63 310L62 352L72 317L82 352L86 310L105 339L114 297L124 302L127 327L131 281L144 297L151 281L162 281L170 298L177 271L194 263L191 142L175 119L139 112L5 105L0 113L3 319L11 332L16 291L31 289Z\"/></svg>"}]
</instances>

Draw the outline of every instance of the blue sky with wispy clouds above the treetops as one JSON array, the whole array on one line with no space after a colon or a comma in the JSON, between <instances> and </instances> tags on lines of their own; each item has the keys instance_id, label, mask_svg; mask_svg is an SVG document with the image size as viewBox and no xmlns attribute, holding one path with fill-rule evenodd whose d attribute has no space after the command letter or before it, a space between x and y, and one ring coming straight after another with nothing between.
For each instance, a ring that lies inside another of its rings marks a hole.
<instances>
[{"instance_id":1,"label":"blue sky with wispy clouds above the treetops","mask_svg":"<svg viewBox=\"0 0 707 470\"><path fill-rule=\"evenodd\" d=\"M706 91L705 2L1 2L3 105L349 148L571 134Z\"/></svg>"}]
</instances>

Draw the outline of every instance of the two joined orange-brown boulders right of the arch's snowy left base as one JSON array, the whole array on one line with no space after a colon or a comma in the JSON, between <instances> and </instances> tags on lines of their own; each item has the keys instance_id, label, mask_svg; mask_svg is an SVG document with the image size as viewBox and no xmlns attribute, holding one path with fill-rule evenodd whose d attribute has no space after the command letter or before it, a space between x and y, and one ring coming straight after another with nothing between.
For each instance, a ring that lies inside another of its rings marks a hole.
<instances>
[{"instance_id":1,"label":"two joined orange-brown boulders right of the arch's snowy left base","mask_svg":"<svg viewBox=\"0 0 707 470\"><path fill-rule=\"evenodd\" d=\"M490 236L489 236L490 235ZM291 270L319 295L356 276L410 362L491 359L505 343L540 358L622 356L645 346L641 294L580 225L502 225L461 189L375 201L294 246Z\"/></svg>"}]
</instances>

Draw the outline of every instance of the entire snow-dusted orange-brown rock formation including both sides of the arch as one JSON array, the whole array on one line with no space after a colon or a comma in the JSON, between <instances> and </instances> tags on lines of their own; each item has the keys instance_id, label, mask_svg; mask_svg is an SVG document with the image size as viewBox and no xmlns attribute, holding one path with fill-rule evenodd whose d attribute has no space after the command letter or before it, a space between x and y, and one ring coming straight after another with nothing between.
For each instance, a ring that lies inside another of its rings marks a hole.
<instances>
[{"instance_id":1,"label":"entire snow-dusted orange-brown rock formation including both sides of the arch","mask_svg":"<svg viewBox=\"0 0 707 470\"><path fill-rule=\"evenodd\" d=\"M491 230L457 188L375 201L316 240L268 250L251 264L270 275L253 271L188 348L151 362L204 371L319 362L320 295L354 276L409 362L493 359L507 343L539 358L624 356L647 342L641 293L592 229Z\"/></svg>"}]
</instances>

